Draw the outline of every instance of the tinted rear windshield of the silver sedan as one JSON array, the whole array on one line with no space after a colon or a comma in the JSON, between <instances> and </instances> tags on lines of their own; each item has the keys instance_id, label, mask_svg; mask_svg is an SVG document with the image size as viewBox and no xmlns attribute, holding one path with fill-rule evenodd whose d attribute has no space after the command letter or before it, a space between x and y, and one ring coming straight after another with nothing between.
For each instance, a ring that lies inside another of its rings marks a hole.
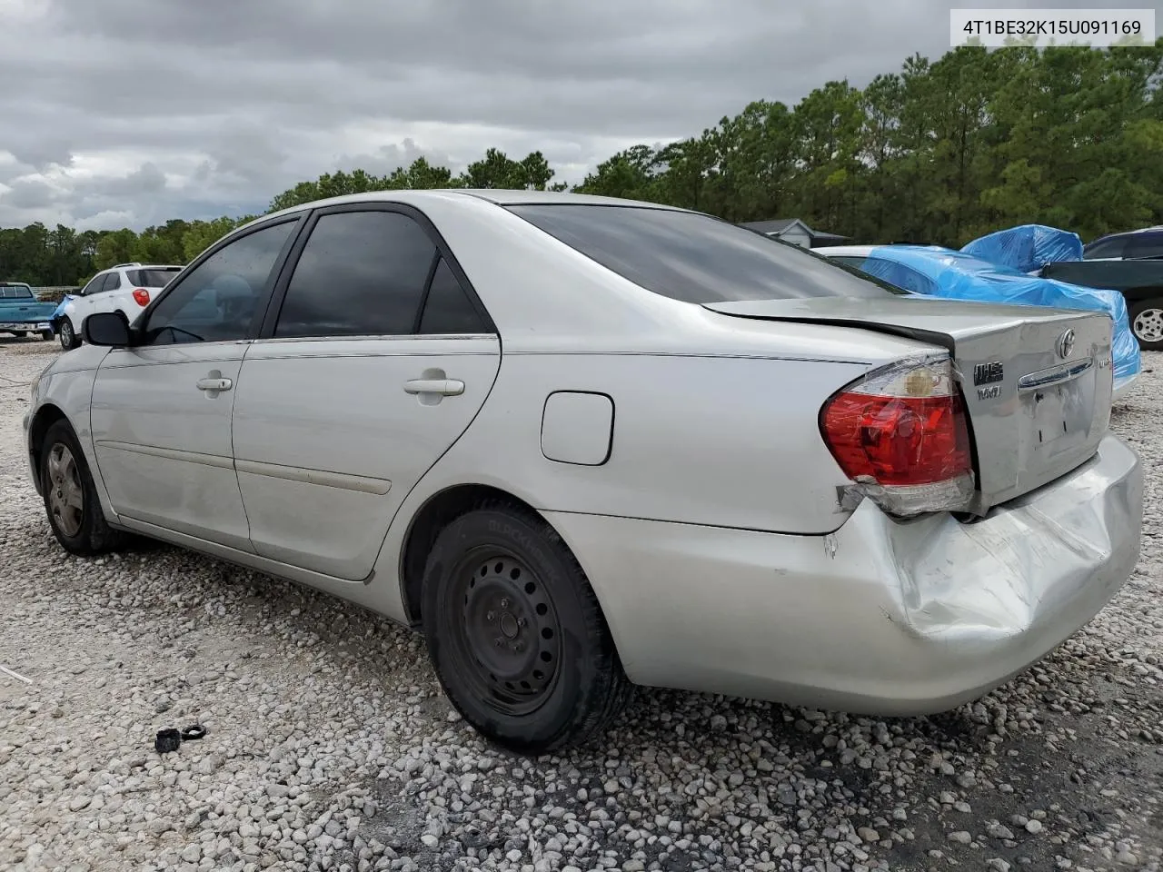
<instances>
[{"instance_id":1,"label":"tinted rear windshield of the silver sedan","mask_svg":"<svg viewBox=\"0 0 1163 872\"><path fill-rule=\"evenodd\" d=\"M683 302L905 293L806 249L706 215L633 206L511 206L636 285Z\"/></svg>"}]
</instances>

